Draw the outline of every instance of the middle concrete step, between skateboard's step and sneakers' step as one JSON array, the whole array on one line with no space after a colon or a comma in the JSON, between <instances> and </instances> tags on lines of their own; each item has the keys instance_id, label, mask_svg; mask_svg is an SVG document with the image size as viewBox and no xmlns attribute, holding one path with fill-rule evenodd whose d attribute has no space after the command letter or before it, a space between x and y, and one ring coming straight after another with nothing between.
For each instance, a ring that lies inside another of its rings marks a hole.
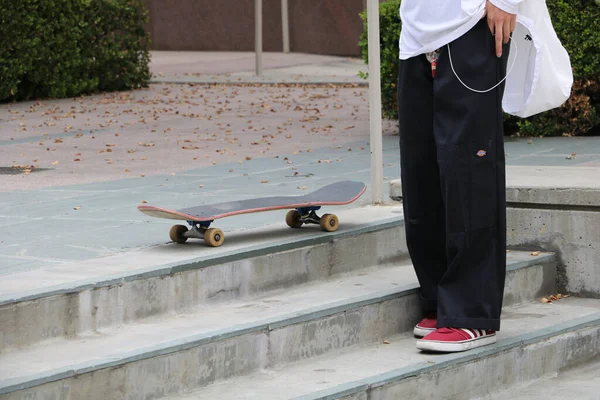
<instances>
[{"instance_id":1,"label":"middle concrete step, between skateboard's step and sneakers' step","mask_svg":"<svg viewBox=\"0 0 600 400\"><path fill-rule=\"evenodd\" d=\"M553 290L553 257L509 253L507 305ZM87 399L160 397L369 345L410 331L420 316L411 265L363 269L7 352L0 399L65 391Z\"/></svg>"}]
</instances>

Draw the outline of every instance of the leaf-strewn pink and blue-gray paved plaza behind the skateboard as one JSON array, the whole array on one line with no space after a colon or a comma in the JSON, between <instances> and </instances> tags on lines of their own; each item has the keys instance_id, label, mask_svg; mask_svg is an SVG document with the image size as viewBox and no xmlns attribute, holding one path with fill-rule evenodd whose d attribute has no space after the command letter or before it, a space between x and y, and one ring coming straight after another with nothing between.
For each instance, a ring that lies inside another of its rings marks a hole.
<instances>
[{"instance_id":1,"label":"leaf-strewn pink and blue-gray paved plaza behind the skateboard","mask_svg":"<svg viewBox=\"0 0 600 400\"><path fill-rule=\"evenodd\" d=\"M249 73L235 54L225 56L240 64L229 73ZM186 63L202 61L201 54L194 57L156 54L152 69L175 76ZM211 57L205 69L190 73L214 73L209 66L221 61ZM276 58L273 65L289 63ZM143 202L184 208L304 194L340 179L370 184L367 100L365 87L153 84L127 93L0 105L0 167L31 170L0 175L0 275L51 272L165 243L170 221L139 213ZM387 121L386 183L400 175L396 131L395 122ZM600 138L511 139L506 152L509 182L518 183L522 171L530 181L539 173L551 182L553 168L561 171L557 186L568 187L579 171L587 176L583 185L600 177ZM351 207L369 199L367 192ZM221 220L218 227L239 231L281 218L277 212L250 214ZM196 251L211 249L198 245Z\"/></svg>"}]
</instances>

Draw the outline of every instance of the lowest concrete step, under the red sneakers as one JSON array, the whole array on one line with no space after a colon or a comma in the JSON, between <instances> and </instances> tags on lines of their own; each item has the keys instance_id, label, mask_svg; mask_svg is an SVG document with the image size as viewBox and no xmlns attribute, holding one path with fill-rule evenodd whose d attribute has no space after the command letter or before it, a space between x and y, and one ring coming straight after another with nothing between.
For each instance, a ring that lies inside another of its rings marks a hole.
<instances>
[{"instance_id":1,"label":"lowest concrete step, under the red sneakers","mask_svg":"<svg viewBox=\"0 0 600 400\"><path fill-rule=\"evenodd\" d=\"M597 358L599 309L600 300L580 298L513 306L504 310L496 344L465 353L419 352L410 334L385 336L382 340L389 344L353 346L169 399L487 398L501 389ZM528 397L517 398L546 397L532 391Z\"/></svg>"}]
</instances>

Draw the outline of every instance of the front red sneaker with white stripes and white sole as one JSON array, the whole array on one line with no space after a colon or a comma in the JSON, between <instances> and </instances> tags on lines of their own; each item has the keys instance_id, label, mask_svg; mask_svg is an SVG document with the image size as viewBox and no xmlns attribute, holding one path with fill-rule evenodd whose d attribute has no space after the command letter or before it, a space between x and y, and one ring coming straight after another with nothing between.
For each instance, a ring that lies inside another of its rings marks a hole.
<instances>
[{"instance_id":1,"label":"front red sneaker with white stripes and white sole","mask_svg":"<svg viewBox=\"0 0 600 400\"><path fill-rule=\"evenodd\" d=\"M417 340L417 349L452 353L496 343L496 332L484 329L440 328Z\"/></svg>"}]
</instances>

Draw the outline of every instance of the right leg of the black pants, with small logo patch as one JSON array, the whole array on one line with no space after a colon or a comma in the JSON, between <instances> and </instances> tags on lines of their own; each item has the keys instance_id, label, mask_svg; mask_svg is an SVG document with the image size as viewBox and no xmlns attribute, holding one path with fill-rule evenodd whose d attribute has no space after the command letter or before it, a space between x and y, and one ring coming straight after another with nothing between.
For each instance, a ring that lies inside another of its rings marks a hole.
<instances>
[{"instance_id":1,"label":"right leg of the black pants, with small logo patch","mask_svg":"<svg viewBox=\"0 0 600 400\"><path fill-rule=\"evenodd\" d=\"M506 74L509 46L495 55L483 19L450 44L452 62L473 89ZM475 93L450 65L448 48L434 81L434 135L446 205L448 268L438 285L437 326L497 331L506 274L504 85ZM480 332L478 332L480 333Z\"/></svg>"}]
</instances>

